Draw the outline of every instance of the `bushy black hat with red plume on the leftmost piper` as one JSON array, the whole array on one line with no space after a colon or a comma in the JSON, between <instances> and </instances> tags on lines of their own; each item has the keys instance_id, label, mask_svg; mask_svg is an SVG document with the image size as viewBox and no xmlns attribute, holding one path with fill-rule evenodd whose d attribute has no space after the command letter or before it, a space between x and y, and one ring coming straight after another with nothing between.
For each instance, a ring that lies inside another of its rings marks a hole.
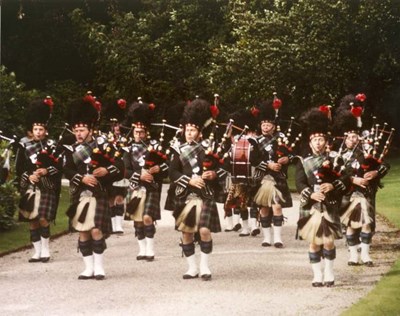
<instances>
[{"instance_id":1,"label":"bushy black hat with red plume on the leftmost piper","mask_svg":"<svg viewBox=\"0 0 400 316\"><path fill-rule=\"evenodd\" d=\"M44 100L40 99L31 102L26 112L27 130L32 130L34 125L47 127L53 106L53 100L49 96Z\"/></svg>"}]
</instances>

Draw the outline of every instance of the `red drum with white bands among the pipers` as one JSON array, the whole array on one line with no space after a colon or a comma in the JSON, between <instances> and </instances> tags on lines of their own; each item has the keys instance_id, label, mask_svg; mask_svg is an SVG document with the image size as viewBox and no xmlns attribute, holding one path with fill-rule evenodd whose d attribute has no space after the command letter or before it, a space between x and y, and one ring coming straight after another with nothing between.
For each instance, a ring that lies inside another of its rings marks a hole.
<instances>
[{"instance_id":1,"label":"red drum with white bands among the pipers","mask_svg":"<svg viewBox=\"0 0 400 316\"><path fill-rule=\"evenodd\" d=\"M251 179L250 143L242 137L232 147L232 183L247 183Z\"/></svg>"}]
</instances>

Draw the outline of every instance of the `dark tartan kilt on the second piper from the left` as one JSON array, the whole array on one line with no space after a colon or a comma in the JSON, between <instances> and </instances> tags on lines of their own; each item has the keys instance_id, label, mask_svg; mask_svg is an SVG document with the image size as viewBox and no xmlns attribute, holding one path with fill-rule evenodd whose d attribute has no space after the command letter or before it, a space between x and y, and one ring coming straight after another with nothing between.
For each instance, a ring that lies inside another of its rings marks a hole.
<instances>
[{"instance_id":1,"label":"dark tartan kilt on the second piper from the left","mask_svg":"<svg viewBox=\"0 0 400 316\"><path fill-rule=\"evenodd\" d=\"M80 193L78 191L71 195L72 204L79 203ZM104 190L95 190L93 197L96 198L96 213L94 216L94 225L100 229L104 238L109 237L111 233L111 213L108 205L108 194Z\"/></svg>"}]
</instances>

